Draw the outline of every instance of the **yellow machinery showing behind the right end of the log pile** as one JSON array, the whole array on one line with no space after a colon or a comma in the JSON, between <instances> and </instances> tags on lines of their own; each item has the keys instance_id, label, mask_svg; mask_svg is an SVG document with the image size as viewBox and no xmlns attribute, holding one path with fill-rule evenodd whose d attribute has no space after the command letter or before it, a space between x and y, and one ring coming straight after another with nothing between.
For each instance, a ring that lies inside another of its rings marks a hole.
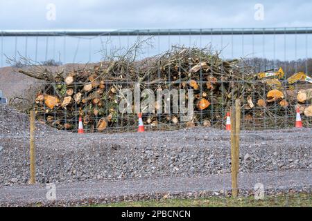
<instances>
[{"instance_id":1,"label":"yellow machinery showing behind the right end of the log pile","mask_svg":"<svg viewBox=\"0 0 312 221\"><path fill-rule=\"evenodd\" d=\"M283 68L274 68L271 70L266 70L261 73L257 73L257 78L265 81L266 84L268 84L268 86L270 86L272 89L281 89L284 87L283 85L284 76L285 76L285 73L284 73ZM304 81L312 84L311 77L309 77L303 72L297 72L291 75L291 77L288 77L286 79L286 84L287 84L286 87L293 89L295 88L293 84L296 84L298 82L304 82Z\"/></svg>"}]
</instances>

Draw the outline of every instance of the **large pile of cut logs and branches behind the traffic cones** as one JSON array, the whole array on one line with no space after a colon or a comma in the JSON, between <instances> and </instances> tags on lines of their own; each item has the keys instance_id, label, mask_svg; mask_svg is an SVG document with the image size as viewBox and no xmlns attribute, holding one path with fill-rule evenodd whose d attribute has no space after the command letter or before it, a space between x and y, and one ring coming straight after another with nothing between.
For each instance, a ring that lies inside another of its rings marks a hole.
<instances>
[{"instance_id":1,"label":"large pile of cut logs and branches behind the traffic cones","mask_svg":"<svg viewBox=\"0 0 312 221\"><path fill-rule=\"evenodd\" d=\"M33 108L37 118L55 128L77 130L78 118L83 117L89 132L120 128L125 131L137 126L137 115L120 113L121 90L193 89L194 115L182 122L181 113L145 114L144 124L150 128L182 126L224 126L224 117L236 98L242 101L245 120L272 119L293 113L295 105L306 117L311 117L311 90L271 90L255 78L253 68L243 65L241 59L223 60L218 52L209 48L184 48L174 46L171 50L153 58L112 59L65 73L53 73L48 68L19 73L46 81L38 91ZM188 91L188 90L186 90ZM295 96L295 98L294 98ZM164 98L163 98L164 99ZM185 94L186 101L188 93ZM144 96L141 96L143 102ZM172 105L172 104L171 104ZM311 119L307 119L311 122ZM293 122L290 122L293 124Z\"/></svg>"}]
</instances>

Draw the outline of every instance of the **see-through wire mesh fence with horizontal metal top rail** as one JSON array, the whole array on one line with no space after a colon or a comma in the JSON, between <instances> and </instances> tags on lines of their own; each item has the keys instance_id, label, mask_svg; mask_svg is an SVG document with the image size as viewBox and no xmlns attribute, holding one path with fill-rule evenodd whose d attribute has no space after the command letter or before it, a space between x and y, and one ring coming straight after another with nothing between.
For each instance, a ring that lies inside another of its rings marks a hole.
<instances>
[{"instance_id":1,"label":"see-through wire mesh fence with horizontal metal top rail","mask_svg":"<svg viewBox=\"0 0 312 221\"><path fill-rule=\"evenodd\" d=\"M8 101L0 110L0 186L8 187L0 204L188 191L226 201L227 124L241 99L239 197L311 205L312 28L0 33L0 98ZM25 186L29 111L37 119L37 183L54 185L37 190ZM141 123L146 133L137 133ZM60 195L51 200L44 188ZM19 201L21 191L29 201Z\"/></svg>"}]
</instances>

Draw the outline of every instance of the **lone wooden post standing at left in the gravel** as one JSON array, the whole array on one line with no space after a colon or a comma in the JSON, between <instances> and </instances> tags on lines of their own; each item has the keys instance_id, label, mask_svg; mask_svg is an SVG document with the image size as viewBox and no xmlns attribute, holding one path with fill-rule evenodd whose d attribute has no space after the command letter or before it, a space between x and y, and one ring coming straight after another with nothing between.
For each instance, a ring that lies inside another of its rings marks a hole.
<instances>
[{"instance_id":1,"label":"lone wooden post standing at left in the gravel","mask_svg":"<svg viewBox=\"0 0 312 221\"><path fill-rule=\"evenodd\" d=\"M35 172L35 111L31 111L31 133L30 133L30 144L31 144L31 148L30 148L30 155L31 155L31 166L30 166L30 170L31 170L31 180L30 180L30 184L35 184L36 182L36 172Z\"/></svg>"}]
</instances>

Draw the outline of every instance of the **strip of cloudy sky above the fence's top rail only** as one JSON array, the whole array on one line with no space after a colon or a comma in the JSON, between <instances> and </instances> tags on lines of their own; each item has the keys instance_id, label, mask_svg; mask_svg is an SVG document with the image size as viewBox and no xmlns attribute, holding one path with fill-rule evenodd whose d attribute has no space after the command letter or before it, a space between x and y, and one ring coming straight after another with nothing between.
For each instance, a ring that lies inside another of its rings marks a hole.
<instances>
[{"instance_id":1,"label":"strip of cloudy sky above the fence's top rail only","mask_svg":"<svg viewBox=\"0 0 312 221\"><path fill-rule=\"evenodd\" d=\"M1 29L312 26L312 1L1 0ZM49 3L55 20L47 20ZM264 8L255 20L255 4Z\"/></svg>"}]
</instances>

